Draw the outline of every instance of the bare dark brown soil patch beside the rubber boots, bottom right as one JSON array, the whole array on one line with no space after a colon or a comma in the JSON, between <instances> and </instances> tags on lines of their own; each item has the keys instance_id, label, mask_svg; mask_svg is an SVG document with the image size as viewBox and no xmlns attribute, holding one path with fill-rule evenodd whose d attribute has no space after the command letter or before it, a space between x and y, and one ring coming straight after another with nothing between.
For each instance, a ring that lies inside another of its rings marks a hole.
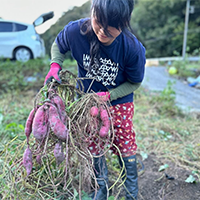
<instances>
[{"instance_id":1,"label":"bare dark brown soil patch beside the rubber boots, bottom right","mask_svg":"<svg viewBox=\"0 0 200 200\"><path fill-rule=\"evenodd\" d=\"M159 172L165 163L169 167ZM138 180L138 200L200 200L200 183L185 182L191 172L155 155L149 155L143 164L145 171ZM166 175L174 179L169 180Z\"/></svg>"}]
</instances>

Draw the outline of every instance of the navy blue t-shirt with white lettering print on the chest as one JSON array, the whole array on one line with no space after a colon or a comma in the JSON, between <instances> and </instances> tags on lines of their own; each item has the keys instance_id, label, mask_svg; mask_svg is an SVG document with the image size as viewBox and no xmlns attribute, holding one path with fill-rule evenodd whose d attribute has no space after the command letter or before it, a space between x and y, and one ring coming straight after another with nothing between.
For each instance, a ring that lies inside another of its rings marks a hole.
<instances>
[{"instance_id":1,"label":"navy blue t-shirt with white lettering print on the chest","mask_svg":"<svg viewBox=\"0 0 200 200\"><path fill-rule=\"evenodd\" d=\"M133 83L142 82L146 61L145 48L134 35L127 36L124 32L109 46L100 43L99 64L96 63L99 65L98 70L88 70L90 44L87 36L80 32L81 24L87 19L70 22L56 37L60 52L65 54L71 51L72 57L77 61L78 77L87 77L83 80L84 92L88 88L94 92L108 91L127 80ZM133 93L114 100L111 104L127 102L133 102Z\"/></svg>"}]
</instances>

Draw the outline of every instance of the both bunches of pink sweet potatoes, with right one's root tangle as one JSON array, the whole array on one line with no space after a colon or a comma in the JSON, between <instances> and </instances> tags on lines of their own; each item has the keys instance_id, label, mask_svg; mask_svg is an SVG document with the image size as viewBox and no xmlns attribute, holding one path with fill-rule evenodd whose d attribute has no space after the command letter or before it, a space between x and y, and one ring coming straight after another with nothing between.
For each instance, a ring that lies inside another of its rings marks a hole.
<instances>
[{"instance_id":1,"label":"both bunches of pink sweet potatoes, with right one's root tangle","mask_svg":"<svg viewBox=\"0 0 200 200\"><path fill-rule=\"evenodd\" d=\"M88 144L93 141L98 143L97 146L99 147L102 141L106 140L107 143L109 143L109 131L112 129L109 109L108 106L104 105L101 101L98 102L95 94L86 94L79 101L75 102L68 117L62 98L54 90L48 92L47 100L41 105L39 104L36 106L30 112L27 119L25 134L28 144L31 133L33 133L36 141L41 146L44 146L44 142L48 141L49 136L53 135L53 155L57 166L60 165L65 159L62 142L68 140L69 130L67 128L67 121L69 121L69 118L70 127L73 127L70 128L70 132L73 135L73 138L70 138L70 142L74 145L79 148L88 148ZM97 138L99 138L99 140L96 140ZM71 141L71 139L74 141ZM82 142L84 143L82 144ZM87 150L83 151L87 152ZM36 153L36 161L39 164L41 164L42 157L40 153L41 151ZM27 175L30 174L30 168L33 166L30 164L32 163L31 160L32 154L31 150L28 148L23 158L23 164L27 170Z\"/></svg>"}]
</instances>

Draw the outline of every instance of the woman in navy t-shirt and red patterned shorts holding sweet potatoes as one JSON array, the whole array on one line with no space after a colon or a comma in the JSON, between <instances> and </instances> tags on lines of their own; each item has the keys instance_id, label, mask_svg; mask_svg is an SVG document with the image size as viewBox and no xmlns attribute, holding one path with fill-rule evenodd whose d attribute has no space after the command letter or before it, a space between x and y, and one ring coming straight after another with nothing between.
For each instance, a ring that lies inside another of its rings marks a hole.
<instances>
[{"instance_id":1,"label":"woman in navy t-shirt and red patterned shorts holding sweet potatoes","mask_svg":"<svg viewBox=\"0 0 200 200\"><path fill-rule=\"evenodd\" d=\"M115 113L114 143L126 168L126 200L137 199L138 193L133 92L141 85L145 68L145 48L131 33L133 7L133 0L93 0L90 18L70 22L57 35L45 78L45 84L52 78L61 82L58 73L65 54L71 51L78 64L78 77L92 78L84 80L85 92L95 79L90 90L110 100L111 111ZM98 154L93 147L91 152ZM119 163L122 165L122 160ZM105 158L95 158L94 166L100 186L95 199L105 200L108 195Z\"/></svg>"}]
</instances>

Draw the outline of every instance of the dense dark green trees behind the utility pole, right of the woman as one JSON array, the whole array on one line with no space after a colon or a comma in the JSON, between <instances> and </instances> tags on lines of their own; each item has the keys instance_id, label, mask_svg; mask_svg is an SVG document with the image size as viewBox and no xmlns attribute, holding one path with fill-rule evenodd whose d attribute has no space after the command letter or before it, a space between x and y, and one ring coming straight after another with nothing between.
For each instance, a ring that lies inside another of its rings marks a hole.
<instances>
[{"instance_id":1,"label":"dense dark green trees behind the utility pole, right of the woman","mask_svg":"<svg viewBox=\"0 0 200 200\"><path fill-rule=\"evenodd\" d=\"M200 0L194 0L196 12L190 14L188 26L188 53L192 54L199 48L199 6ZM185 0L140 0L132 15L132 27L136 35L146 47L147 57L173 56L176 50L181 54L183 32L185 26Z\"/></svg>"}]
</instances>

